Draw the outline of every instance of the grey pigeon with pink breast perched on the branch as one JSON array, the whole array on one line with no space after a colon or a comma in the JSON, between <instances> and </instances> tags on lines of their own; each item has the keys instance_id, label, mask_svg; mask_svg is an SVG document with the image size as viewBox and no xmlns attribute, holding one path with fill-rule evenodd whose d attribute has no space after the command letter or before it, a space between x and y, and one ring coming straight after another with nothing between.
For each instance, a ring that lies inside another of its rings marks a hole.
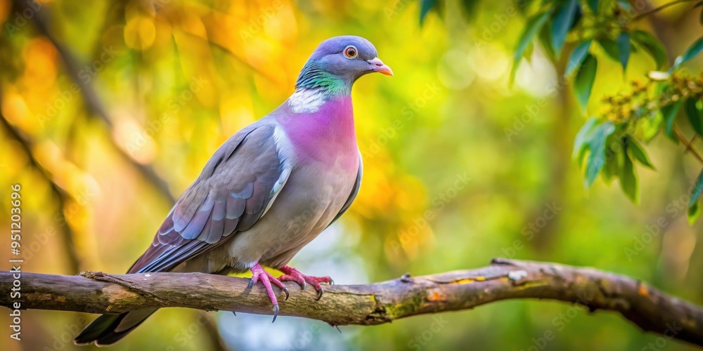
<instances>
[{"instance_id":1,"label":"grey pigeon with pink breast perched on the branch","mask_svg":"<svg viewBox=\"0 0 703 351\"><path fill-rule=\"evenodd\" d=\"M241 273L260 282L278 315L276 286L306 284L322 294L330 277L288 266L303 246L347 211L361 186L352 85L365 74L393 75L370 41L323 41L302 68L295 91L271 113L231 136L176 201L151 246L127 273ZM276 278L266 270L283 272ZM103 314L77 345L110 345L155 309Z\"/></svg>"}]
</instances>

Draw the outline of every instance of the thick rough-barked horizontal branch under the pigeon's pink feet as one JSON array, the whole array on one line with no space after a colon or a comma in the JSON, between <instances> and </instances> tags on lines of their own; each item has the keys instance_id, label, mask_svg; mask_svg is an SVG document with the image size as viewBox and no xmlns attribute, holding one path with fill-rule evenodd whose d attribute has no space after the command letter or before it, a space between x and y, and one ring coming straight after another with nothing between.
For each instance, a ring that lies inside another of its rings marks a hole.
<instances>
[{"instance_id":1,"label":"thick rough-barked horizontal branch under the pigeon's pink feet","mask_svg":"<svg viewBox=\"0 0 703 351\"><path fill-rule=\"evenodd\" d=\"M0 272L0 291L10 291L13 273ZM153 307L188 307L271 314L263 287L247 289L249 279L204 273L104 274L60 276L22 272L20 299L0 294L0 305L22 309L120 313ZM499 300L538 298L611 310L644 331L703 345L703 307L668 296L621 275L556 263L495 259L477 270L401 277L367 285L325 286L300 291L288 282L290 299L279 293L280 314L318 319L332 325L373 325L394 319L467 310Z\"/></svg>"}]
</instances>

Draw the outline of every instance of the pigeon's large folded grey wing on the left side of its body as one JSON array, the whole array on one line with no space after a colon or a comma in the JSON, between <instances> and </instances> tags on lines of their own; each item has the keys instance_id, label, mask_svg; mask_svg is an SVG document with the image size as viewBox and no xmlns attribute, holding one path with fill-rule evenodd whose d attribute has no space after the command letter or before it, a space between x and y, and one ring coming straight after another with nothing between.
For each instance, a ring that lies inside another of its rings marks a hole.
<instances>
[{"instance_id":1,"label":"pigeon's large folded grey wing on the left side of its body","mask_svg":"<svg viewBox=\"0 0 703 351\"><path fill-rule=\"evenodd\" d=\"M171 270L264 216L291 169L280 158L275 129L253 124L227 140L176 201L150 248L128 273Z\"/></svg>"}]
</instances>

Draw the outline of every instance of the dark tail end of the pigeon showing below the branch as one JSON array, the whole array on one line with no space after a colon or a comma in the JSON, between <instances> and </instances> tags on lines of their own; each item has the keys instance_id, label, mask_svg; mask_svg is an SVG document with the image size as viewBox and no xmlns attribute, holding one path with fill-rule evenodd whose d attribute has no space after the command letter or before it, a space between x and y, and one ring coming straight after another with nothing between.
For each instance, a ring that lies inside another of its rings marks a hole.
<instances>
[{"instance_id":1,"label":"dark tail end of the pigeon showing below the branch","mask_svg":"<svg viewBox=\"0 0 703 351\"><path fill-rule=\"evenodd\" d=\"M154 312L156 310L147 309L122 314L103 314L86 326L73 339L73 343L76 345L89 345L91 343L98 346L112 345L127 336L130 331L133 331Z\"/></svg>"}]
</instances>

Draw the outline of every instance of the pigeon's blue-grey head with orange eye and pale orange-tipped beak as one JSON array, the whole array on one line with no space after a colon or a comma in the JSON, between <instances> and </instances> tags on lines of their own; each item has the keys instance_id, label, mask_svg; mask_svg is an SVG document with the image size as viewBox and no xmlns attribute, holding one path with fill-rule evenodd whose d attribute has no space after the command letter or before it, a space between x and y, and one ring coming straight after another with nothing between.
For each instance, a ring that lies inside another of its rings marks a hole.
<instances>
[{"instance_id":1,"label":"pigeon's blue-grey head with orange eye and pale orange-tipped beak","mask_svg":"<svg viewBox=\"0 0 703 351\"><path fill-rule=\"evenodd\" d=\"M333 37L323 41L310 55L295 88L351 88L356 79L373 72L393 75L370 41L353 35Z\"/></svg>"}]
</instances>

